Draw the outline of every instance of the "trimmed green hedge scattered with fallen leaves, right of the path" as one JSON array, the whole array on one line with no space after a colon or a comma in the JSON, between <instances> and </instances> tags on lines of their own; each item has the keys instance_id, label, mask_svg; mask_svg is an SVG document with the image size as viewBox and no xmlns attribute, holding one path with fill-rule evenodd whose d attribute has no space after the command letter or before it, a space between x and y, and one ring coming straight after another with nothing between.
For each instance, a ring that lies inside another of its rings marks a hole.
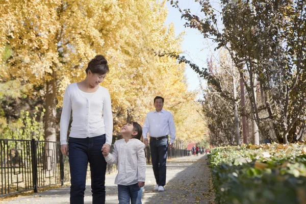
<instances>
[{"instance_id":1,"label":"trimmed green hedge scattered with fallen leaves, right of the path","mask_svg":"<svg viewBox=\"0 0 306 204\"><path fill-rule=\"evenodd\" d=\"M218 147L208 156L217 203L306 203L306 146Z\"/></svg>"}]
</instances>

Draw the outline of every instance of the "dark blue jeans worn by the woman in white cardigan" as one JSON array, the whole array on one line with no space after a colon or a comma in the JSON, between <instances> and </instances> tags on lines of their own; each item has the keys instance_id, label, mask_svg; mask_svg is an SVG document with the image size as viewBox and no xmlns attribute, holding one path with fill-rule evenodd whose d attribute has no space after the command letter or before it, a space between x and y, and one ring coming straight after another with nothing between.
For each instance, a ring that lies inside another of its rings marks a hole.
<instances>
[{"instance_id":1,"label":"dark blue jeans worn by the woman in white cardigan","mask_svg":"<svg viewBox=\"0 0 306 204\"><path fill-rule=\"evenodd\" d=\"M69 137L68 157L71 176L71 204L84 203L88 162L91 172L92 203L105 203L105 173L107 163L101 152L105 141L105 134L91 138Z\"/></svg>"}]
</instances>

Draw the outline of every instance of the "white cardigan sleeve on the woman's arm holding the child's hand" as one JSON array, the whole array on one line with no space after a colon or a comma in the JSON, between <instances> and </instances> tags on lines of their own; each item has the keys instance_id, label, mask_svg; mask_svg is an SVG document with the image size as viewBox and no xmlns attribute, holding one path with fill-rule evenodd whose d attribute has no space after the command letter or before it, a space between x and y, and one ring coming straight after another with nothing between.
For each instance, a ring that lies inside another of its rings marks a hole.
<instances>
[{"instance_id":1,"label":"white cardigan sleeve on the woman's arm holding the child's hand","mask_svg":"<svg viewBox=\"0 0 306 204\"><path fill-rule=\"evenodd\" d=\"M107 89L103 103L103 119L105 124L105 135L106 135L105 143L111 145L113 140L113 114L112 114L111 96Z\"/></svg>"}]
</instances>

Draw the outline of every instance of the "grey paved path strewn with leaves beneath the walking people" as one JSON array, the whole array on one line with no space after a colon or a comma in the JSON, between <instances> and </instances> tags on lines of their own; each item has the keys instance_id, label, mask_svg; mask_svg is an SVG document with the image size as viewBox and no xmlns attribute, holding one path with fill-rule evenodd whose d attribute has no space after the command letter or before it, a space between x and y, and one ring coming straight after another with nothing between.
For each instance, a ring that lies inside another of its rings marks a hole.
<instances>
[{"instance_id":1,"label":"grey paved path strewn with leaves beneath the walking people","mask_svg":"<svg viewBox=\"0 0 306 204\"><path fill-rule=\"evenodd\" d=\"M106 203L118 203L116 174L106 175ZM213 203L209 193L209 168L205 157L183 157L167 162L167 184L164 192L153 191L155 186L152 166L147 166L145 190L142 203ZM90 180L86 182L84 203L91 203ZM69 203L69 186L39 192L29 196L18 196L0 203Z\"/></svg>"}]
</instances>

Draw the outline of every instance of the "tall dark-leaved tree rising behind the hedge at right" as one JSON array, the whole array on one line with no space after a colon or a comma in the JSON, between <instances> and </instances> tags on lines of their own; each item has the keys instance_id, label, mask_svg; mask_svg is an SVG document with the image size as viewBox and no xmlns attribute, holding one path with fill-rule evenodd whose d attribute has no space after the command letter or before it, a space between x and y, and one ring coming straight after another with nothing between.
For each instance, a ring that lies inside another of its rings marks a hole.
<instances>
[{"instance_id":1,"label":"tall dark-leaved tree rising behind the hedge at right","mask_svg":"<svg viewBox=\"0 0 306 204\"><path fill-rule=\"evenodd\" d=\"M213 8L208 0L197 2L203 18L179 8L177 2L175 5L187 20L187 27L212 38L218 43L217 48L226 48L238 67L245 65L240 72L247 74L244 85L260 133L287 143L305 115L305 2L223 0L221 9ZM222 32L218 16L223 23ZM212 81L205 70L194 68ZM262 85L265 106L256 103L254 79Z\"/></svg>"}]
</instances>

